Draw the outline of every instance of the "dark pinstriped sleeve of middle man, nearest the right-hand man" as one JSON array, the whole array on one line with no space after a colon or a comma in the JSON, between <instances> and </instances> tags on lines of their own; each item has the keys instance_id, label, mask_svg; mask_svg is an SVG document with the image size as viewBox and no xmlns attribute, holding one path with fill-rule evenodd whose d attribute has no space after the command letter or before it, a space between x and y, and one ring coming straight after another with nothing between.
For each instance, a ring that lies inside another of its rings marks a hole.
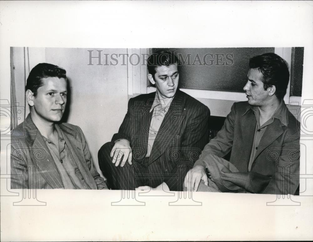
<instances>
[{"instance_id":1,"label":"dark pinstriped sleeve of middle man, nearest the right-hand man","mask_svg":"<svg viewBox=\"0 0 313 242\"><path fill-rule=\"evenodd\" d=\"M205 144L208 143L208 119L210 110L207 106L199 105L190 111L187 119L186 129L183 133L181 146L178 147L180 156L177 166L173 168L171 174L177 174L178 179L165 179L171 191L182 191L183 182L189 169L198 159ZM178 182L178 184L177 184Z\"/></svg>"}]
</instances>

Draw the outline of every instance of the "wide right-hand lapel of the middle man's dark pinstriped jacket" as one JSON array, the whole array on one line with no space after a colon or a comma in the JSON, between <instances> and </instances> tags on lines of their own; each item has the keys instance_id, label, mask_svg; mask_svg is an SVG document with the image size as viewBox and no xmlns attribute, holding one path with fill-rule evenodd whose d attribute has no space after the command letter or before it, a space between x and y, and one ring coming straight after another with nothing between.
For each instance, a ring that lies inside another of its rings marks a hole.
<instances>
[{"instance_id":1,"label":"wide right-hand lapel of the middle man's dark pinstriped jacket","mask_svg":"<svg viewBox=\"0 0 313 242\"><path fill-rule=\"evenodd\" d=\"M184 119L184 101L182 92L177 90L153 143L151 162L154 162L165 152L165 147L169 143L175 142L175 136L181 135L180 128L181 121Z\"/></svg>"}]
</instances>

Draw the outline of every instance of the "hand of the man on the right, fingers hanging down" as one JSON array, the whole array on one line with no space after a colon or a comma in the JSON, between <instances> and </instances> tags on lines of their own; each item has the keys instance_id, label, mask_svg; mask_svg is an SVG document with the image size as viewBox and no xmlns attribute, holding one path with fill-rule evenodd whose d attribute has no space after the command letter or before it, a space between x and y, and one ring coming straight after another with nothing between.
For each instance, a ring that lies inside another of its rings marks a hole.
<instances>
[{"instance_id":1,"label":"hand of the man on the right, fingers hanging down","mask_svg":"<svg viewBox=\"0 0 313 242\"><path fill-rule=\"evenodd\" d=\"M194 166L187 172L184 180L184 187L187 188L187 191L196 192L201 180L203 180L204 184L208 186L208 176L204 170L204 167Z\"/></svg>"}]
</instances>

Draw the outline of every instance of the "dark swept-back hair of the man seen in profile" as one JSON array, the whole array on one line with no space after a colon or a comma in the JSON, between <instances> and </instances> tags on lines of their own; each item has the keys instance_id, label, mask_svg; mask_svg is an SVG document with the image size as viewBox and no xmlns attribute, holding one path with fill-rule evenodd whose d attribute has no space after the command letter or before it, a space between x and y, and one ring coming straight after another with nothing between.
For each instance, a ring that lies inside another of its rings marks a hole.
<instances>
[{"instance_id":1,"label":"dark swept-back hair of the man seen in profile","mask_svg":"<svg viewBox=\"0 0 313 242\"><path fill-rule=\"evenodd\" d=\"M264 90L275 85L276 97L284 98L289 82L287 62L275 53L266 53L254 56L249 61L251 69L258 69L263 75Z\"/></svg>"}]
</instances>

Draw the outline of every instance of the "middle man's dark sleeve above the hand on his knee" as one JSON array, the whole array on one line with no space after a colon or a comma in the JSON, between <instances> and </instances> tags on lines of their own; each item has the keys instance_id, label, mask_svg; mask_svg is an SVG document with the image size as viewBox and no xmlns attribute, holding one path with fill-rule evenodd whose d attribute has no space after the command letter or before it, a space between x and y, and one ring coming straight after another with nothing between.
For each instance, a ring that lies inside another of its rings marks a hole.
<instances>
[{"instance_id":1,"label":"middle man's dark sleeve above the hand on his knee","mask_svg":"<svg viewBox=\"0 0 313 242\"><path fill-rule=\"evenodd\" d=\"M114 134L112 137L112 142L115 142L120 139L126 139L131 142L131 111L133 108L133 98L128 101L127 113L124 117L124 120L119 128L118 133Z\"/></svg>"}]
</instances>

